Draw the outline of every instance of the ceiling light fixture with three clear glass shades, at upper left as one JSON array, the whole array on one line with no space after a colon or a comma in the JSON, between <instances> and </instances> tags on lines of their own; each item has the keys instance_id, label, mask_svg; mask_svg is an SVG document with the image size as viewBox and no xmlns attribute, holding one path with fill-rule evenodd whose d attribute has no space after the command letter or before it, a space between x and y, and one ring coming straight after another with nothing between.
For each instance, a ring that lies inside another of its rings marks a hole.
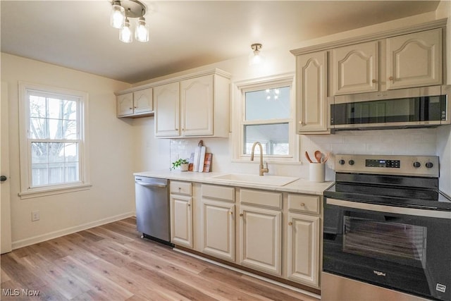
<instances>
[{"instance_id":1,"label":"ceiling light fixture with three clear glass shades, at upper left","mask_svg":"<svg viewBox=\"0 0 451 301\"><path fill-rule=\"evenodd\" d=\"M139 18L135 26L135 39L140 42L149 41L149 27L147 26L144 15L146 14L146 6L137 0L122 0L111 2L111 18L110 24L114 28L118 28L119 39L121 42L132 42L132 30L130 29L129 18Z\"/></svg>"}]
</instances>

